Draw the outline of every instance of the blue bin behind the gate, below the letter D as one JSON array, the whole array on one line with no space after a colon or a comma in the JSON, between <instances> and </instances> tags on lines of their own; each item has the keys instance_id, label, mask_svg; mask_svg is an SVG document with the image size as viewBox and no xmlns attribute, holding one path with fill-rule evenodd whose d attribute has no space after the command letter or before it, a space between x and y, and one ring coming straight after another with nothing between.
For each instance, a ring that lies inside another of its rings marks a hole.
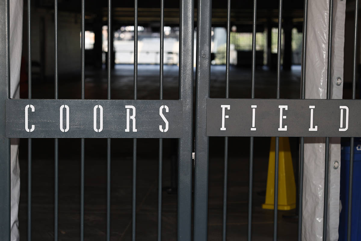
<instances>
[{"instance_id":1,"label":"blue bin behind the gate, below the letter D","mask_svg":"<svg viewBox=\"0 0 361 241\"><path fill-rule=\"evenodd\" d=\"M361 138L355 138L353 148L353 184L352 184L352 215L351 240L361 241ZM339 241L347 240L348 187L350 170L350 140L341 141L341 180Z\"/></svg>"}]
</instances>

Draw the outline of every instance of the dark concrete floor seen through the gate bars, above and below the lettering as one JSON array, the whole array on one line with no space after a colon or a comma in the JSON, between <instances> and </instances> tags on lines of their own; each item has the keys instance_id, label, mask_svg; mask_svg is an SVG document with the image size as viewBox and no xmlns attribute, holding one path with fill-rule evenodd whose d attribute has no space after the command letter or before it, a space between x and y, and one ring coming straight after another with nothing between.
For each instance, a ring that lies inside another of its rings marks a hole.
<instances>
[{"instance_id":1,"label":"dark concrete floor seen through the gate bars, above and below the lettering","mask_svg":"<svg viewBox=\"0 0 361 241\"><path fill-rule=\"evenodd\" d=\"M158 99L159 69L138 67L138 98ZM300 68L282 73L281 97L298 98ZM112 73L112 98L132 99L132 65L118 65ZM178 99L178 67L165 66L164 98ZM251 96L251 70L231 68L231 98ZM59 76L61 99L80 98L80 76ZM256 72L256 98L275 98L276 73ZM86 72L86 98L106 98L106 72ZM225 66L211 68L211 97L225 93ZM34 80L33 98L53 98L53 83ZM27 235L27 140L21 139L21 198L19 228ZM297 138L291 138L296 163ZM227 240L246 240L248 215L249 138L229 140ZM79 240L80 140L59 140L59 240ZM86 139L85 240L106 236L106 140ZM222 239L223 138L210 138L208 240ZM253 181L253 240L273 240L273 210L262 210L270 138L255 138ZM170 185L171 144L164 140L163 186ZM33 140L32 240L52 240L54 212L53 140ZM295 165L295 164L294 164ZM111 240L131 240L132 140L112 139ZM136 240L157 240L158 141L139 139L137 160ZM296 177L297 179L297 177ZM278 212L278 240L296 240L297 220L283 218L294 210ZM177 195L163 192L162 240L177 237Z\"/></svg>"}]
</instances>

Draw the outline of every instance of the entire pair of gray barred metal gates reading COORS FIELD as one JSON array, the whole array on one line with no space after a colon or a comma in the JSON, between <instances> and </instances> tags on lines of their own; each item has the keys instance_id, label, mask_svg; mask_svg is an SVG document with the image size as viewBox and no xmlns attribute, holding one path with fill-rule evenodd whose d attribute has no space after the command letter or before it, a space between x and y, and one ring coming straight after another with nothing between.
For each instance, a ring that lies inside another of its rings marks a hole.
<instances>
[{"instance_id":1,"label":"entire pair of gray barred metal gates reading COORS FIELD","mask_svg":"<svg viewBox=\"0 0 361 241\"><path fill-rule=\"evenodd\" d=\"M257 0L253 1L252 38L252 99L229 99L230 68L230 12L227 0L227 50L225 99L209 98L211 0L198 0L196 44L196 116L195 116L195 184L194 213L192 215L192 95L193 95L193 0L180 1L180 56L179 100L163 100L163 58L160 59L160 100L137 99L138 35L134 36L134 100L112 100L110 96L111 56L108 55L108 99L84 99L84 3L82 0L82 99L58 99L57 74L57 0L55 0L55 99L31 99L31 48L29 48L29 99L10 99L9 67L9 0L0 2L0 240L10 240L10 138L29 138L28 191L31 193L31 138L55 138L55 227L54 239L58 239L58 138L81 138L81 240L84 227L84 138L107 138L107 240L110 238L110 138L133 138L133 192L132 192L132 240L135 240L136 198L136 147L137 138L159 138L159 190L158 190L158 240L161 240L161 167L162 138L179 139L178 163L178 240L207 240L208 214L208 140L209 136L225 137L225 173L223 197L223 240L226 240L227 211L227 161L228 136L250 137L248 240L252 229L252 173L253 137L276 136L275 147L275 195L274 240L277 240L278 203L278 147L279 137L300 137L300 186L299 226L301 240L302 193L303 193L303 143L304 137L326 137L325 170L329 169L329 137L361 136L358 117L361 110L355 100L330 100L330 73L332 49L332 7L330 0L327 100L305 99L305 55L308 0L304 3L302 79L300 99L280 99L280 46L282 29L282 0L279 0L277 99L255 99L255 41ZM30 0L27 1L30 6ZM355 39L353 56L352 99L355 99L357 14L355 10ZM111 0L108 0L108 33L111 32ZM134 26L138 29L138 0L134 0ZM31 13L28 7L27 26L30 46ZM161 28L164 27L164 0L161 0ZM162 33L162 31L161 31ZM108 49L111 49L108 38ZM164 36L161 34L161 56ZM314 123L326 123L318 125ZM350 149L350 187L352 187L353 149ZM325 172L325 197L328 196L328 172ZM348 239L351 232L352 188L349 189ZM327 198L324 207L327 207ZM323 233L326 233L327 208L323 214ZM28 240L31 240L31 195L28 199ZM193 228L192 228L193 216ZM192 237L193 235L193 237ZM323 235L326 240L326 235Z\"/></svg>"}]
</instances>

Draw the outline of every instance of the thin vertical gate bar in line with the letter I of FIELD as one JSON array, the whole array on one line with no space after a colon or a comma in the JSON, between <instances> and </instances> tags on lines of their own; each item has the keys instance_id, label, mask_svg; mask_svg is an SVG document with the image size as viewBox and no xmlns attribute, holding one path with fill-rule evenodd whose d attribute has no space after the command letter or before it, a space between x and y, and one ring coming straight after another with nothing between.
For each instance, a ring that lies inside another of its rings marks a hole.
<instances>
[{"instance_id":1,"label":"thin vertical gate bar in line with the letter I of FIELD","mask_svg":"<svg viewBox=\"0 0 361 241\"><path fill-rule=\"evenodd\" d=\"M256 26L257 26L257 0L253 0L253 26L252 26L252 81L251 98L255 98L255 72L256 72ZM249 138L249 181L248 181L248 236L252 240L252 192L253 192L253 137Z\"/></svg>"}]
</instances>

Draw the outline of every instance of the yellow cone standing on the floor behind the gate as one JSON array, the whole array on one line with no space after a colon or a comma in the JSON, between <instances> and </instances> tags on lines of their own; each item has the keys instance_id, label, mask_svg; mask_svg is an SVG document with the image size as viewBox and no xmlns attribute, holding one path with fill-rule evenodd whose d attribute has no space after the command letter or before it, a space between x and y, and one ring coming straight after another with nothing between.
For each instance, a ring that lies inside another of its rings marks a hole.
<instances>
[{"instance_id":1,"label":"yellow cone standing on the floor behind the gate","mask_svg":"<svg viewBox=\"0 0 361 241\"><path fill-rule=\"evenodd\" d=\"M272 137L268 160L266 201L262 204L264 209L274 208L274 161L275 137ZM278 163L278 210L291 210L296 208L296 183L288 137L279 138Z\"/></svg>"}]
</instances>

